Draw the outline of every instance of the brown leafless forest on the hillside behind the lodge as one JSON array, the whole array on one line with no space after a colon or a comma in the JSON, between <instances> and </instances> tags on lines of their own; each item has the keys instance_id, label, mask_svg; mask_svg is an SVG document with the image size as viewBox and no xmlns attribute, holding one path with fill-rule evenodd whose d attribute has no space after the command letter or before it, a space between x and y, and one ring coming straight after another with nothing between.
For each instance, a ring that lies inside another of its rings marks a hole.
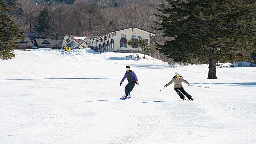
<instances>
[{"instance_id":1,"label":"brown leafless forest on the hillside behind the lodge","mask_svg":"<svg viewBox=\"0 0 256 144\"><path fill-rule=\"evenodd\" d=\"M165 0L4 0L18 8L10 12L16 24L26 32L35 31L40 13L46 8L49 13L49 29L44 32L52 39L63 39L65 34L101 36L110 31L138 27L156 33L153 42L163 43L161 32L151 28L158 21L158 13ZM155 27L155 26L154 26ZM151 44L154 47L154 44ZM151 52L155 55L156 50ZM162 59L162 55L158 55ZM166 58L164 58L166 61Z\"/></svg>"}]
</instances>

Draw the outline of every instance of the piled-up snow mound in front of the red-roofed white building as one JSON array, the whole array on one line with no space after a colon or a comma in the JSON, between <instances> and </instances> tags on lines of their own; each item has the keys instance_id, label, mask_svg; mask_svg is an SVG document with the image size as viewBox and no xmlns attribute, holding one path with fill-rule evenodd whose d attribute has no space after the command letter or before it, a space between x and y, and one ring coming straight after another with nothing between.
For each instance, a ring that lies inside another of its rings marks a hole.
<instances>
[{"instance_id":1,"label":"piled-up snow mound in front of the red-roofed white building","mask_svg":"<svg viewBox=\"0 0 256 144\"><path fill-rule=\"evenodd\" d=\"M90 48L85 48L85 49L73 49L71 51L64 51L61 52L61 54L67 56L76 56L76 55L84 55L84 56L89 56L89 55L93 55L96 54L96 52L94 52L94 50L90 49Z\"/></svg>"}]
</instances>

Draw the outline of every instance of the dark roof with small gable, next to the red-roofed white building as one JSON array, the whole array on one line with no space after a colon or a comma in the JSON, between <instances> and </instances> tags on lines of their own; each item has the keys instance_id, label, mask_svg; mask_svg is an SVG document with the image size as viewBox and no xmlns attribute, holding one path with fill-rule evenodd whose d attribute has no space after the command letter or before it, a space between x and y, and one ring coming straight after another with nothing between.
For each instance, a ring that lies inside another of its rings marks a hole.
<instances>
[{"instance_id":1,"label":"dark roof with small gable, next to the red-roofed white building","mask_svg":"<svg viewBox=\"0 0 256 144\"><path fill-rule=\"evenodd\" d=\"M57 47L60 48L62 44L62 40L54 40L54 39L35 39L38 47Z\"/></svg>"}]
</instances>

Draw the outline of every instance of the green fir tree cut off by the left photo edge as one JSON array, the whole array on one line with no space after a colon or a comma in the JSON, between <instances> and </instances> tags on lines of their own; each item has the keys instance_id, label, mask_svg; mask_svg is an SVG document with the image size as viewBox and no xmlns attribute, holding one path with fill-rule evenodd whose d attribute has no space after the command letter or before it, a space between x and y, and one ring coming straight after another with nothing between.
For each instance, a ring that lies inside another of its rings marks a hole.
<instances>
[{"instance_id":1,"label":"green fir tree cut off by the left photo edge","mask_svg":"<svg viewBox=\"0 0 256 144\"><path fill-rule=\"evenodd\" d=\"M7 7L2 0L0 0L0 59L8 60L15 57L10 45L17 44L17 39L25 38L24 31L21 27L15 25L13 20L10 20L10 14L6 12L14 10L14 7Z\"/></svg>"}]
</instances>

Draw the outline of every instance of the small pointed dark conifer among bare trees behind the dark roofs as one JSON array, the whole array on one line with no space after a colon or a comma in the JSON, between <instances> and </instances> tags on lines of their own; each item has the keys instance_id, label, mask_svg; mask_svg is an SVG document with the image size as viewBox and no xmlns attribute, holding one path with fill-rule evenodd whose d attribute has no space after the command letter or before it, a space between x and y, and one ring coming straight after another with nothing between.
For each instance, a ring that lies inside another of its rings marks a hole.
<instances>
[{"instance_id":1,"label":"small pointed dark conifer among bare trees behind the dark roofs","mask_svg":"<svg viewBox=\"0 0 256 144\"><path fill-rule=\"evenodd\" d=\"M36 25L34 25L34 30L36 32L45 32L46 30L50 29L51 27L49 26L49 19L49 13L44 7L44 9L37 18Z\"/></svg>"}]
</instances>

